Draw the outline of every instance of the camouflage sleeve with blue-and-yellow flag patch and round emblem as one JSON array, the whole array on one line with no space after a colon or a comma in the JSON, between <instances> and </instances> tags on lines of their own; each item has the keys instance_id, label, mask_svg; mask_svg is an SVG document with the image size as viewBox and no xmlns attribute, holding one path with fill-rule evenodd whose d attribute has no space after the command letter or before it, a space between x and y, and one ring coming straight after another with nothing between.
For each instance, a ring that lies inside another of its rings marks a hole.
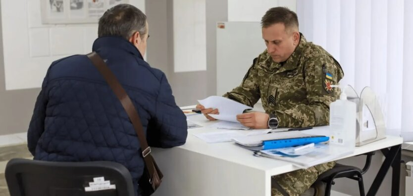
<instances>
[{"instance_id":1,"label":"camouflage sleeve with blue-and-yellow flag patch and round emblem","mask_svg":"<svg viewBox=\"0 0 413 196\"><path fill-rule=\"evenodd\" d=\"M281 127L328 125L330 103L340 96L339 89L331 88L343 78L343 71L333 58L313 57L304 66L308 104L299 104L285 111L277 111Z\"/></svg>"}]
</instances>

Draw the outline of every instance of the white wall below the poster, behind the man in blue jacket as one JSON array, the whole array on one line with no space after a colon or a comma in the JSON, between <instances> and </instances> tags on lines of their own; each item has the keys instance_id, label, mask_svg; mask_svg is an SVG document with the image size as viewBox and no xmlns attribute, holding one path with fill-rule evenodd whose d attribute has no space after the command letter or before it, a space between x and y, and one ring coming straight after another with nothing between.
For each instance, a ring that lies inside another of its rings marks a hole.
<instances>
[{"instance_id":1,"label":"white wall below the poster, behind the man in blue jacket","mask_svg":"<svg viewBox=\"0 0 413 196\"><path fill-rule=\"evenodd\" d=\"M145 11L145 0L130 0ZM91 52L97 24L43 25L41 0L1 0L6 90L40 87L52 61Z\"/></svg>"}]
</instances>

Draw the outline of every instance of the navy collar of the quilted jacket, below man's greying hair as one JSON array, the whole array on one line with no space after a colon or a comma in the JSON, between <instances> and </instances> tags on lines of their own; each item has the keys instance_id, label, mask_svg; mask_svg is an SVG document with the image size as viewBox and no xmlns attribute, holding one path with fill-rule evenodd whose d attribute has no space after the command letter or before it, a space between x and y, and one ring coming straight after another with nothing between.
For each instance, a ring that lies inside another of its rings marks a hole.
<instances>
[{"instance_id":1,"label":"navy collar of the quilted jacket, below man's greying hair","mask_svg":"<svg viewBox=\"0 0 413 196\"><path fill-rule=\"evenodd\" d=\"M102 48L118 48L127 51L128 53L137 56L140 59L144 59L142 57L141 52L139 52L138 48L136 48L131 42L116 36L107 36L101 37L93 42L92 51L99 51Z\"/></svg>"}]
</instances>

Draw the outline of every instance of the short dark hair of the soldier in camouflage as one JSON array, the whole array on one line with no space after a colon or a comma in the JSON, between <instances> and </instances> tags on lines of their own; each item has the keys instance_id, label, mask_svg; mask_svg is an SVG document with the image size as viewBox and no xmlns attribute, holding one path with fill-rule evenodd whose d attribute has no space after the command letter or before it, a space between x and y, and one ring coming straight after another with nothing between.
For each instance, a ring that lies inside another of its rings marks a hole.
<instances>
[{"instance_id":1,"label":"short dark hair of the soldier in camouflage","mask_svg":"<svg viewBox=\"0 0 413 196\"><path fill-rule=\"evenodd\" d=\"M276 23L283 23L286 31L292 28L298 29L297 14L287 7L270 8L261 18L261 27L267 28Z\"/></svg>"}]
</instances>

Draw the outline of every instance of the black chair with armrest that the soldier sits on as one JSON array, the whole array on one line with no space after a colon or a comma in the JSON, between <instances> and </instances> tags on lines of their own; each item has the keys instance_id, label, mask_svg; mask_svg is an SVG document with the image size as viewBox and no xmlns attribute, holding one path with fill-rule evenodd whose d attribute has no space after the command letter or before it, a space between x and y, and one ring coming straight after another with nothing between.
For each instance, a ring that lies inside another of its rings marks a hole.
<instances>
[{"instance_id":1,"label":"black chair with armrest that the soldier sits on","mask_svg":"<svg viewBox=\"0 0 413 196\"><path fill-rule=\"evenodd\" d=\"M355 167L355 166L343 165L343 164L337 163L336 166L334 166L332 169L330 169L330 170L322 173L320 176L318 176L318 179L314 183L314 186L320 186L320 184L321 185L324 184L325 185L324 196L330 196L331 186L335 184L334 179L337 179L337 178L350 178L350 179L358 181L360 196L365 196L363 176L362 175L370 167L371 157L373 155L375 155L375 152L369 152L369 153L365 153L365 154L362 154L362 155L367 156L364 167L362 169L360 169L359 167ZM321 190L321 189L318 188L318 190ZM316 194L316 195L320 196L320 194Z\"/></svg>"}]
</instances>

